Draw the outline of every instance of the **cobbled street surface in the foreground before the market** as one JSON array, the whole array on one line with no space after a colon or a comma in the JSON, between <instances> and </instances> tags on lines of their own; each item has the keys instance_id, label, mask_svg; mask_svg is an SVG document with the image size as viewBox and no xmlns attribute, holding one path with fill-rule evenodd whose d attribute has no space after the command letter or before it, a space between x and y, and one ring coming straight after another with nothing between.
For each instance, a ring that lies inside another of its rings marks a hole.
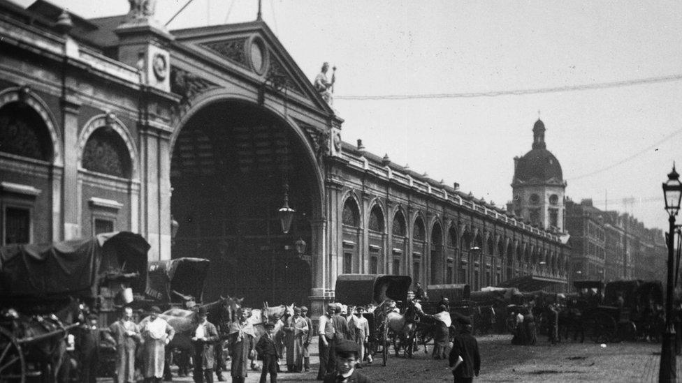
<instances>
[{"instance_id":1,"label":"cobbled street surface in the foreground before the market","mask_svg":"<svg viewBox=\"0 0 682 383\"><path fill-rule=\"evenodd\" d=\"M537 345L511 345L511 336L478 337L482 366L478 382L656 382L660 361L660 343L560 343L551 346L544 338ZM317 344L312 345L317 350ZM391 349L392 350L392 349ZM430 347L429 347L430 351ZM386 367L381 358L361 371L375 382L451 382L447 361L433 360L423 349L413 359L391 354ZM678 375L682 359L677 359ZM310 373L280 373L280 382L314 381L319 361L311 358ZM229 363L228 363L229 364ZM228 382L229 372L224 373ZM258 382L260 372L249 371L247 382ZM98 380L111 382L108 379ZM191 377L174 378L192 382ZM678 380L680 381L680 380Z\"/></svg>"}]
</instances>

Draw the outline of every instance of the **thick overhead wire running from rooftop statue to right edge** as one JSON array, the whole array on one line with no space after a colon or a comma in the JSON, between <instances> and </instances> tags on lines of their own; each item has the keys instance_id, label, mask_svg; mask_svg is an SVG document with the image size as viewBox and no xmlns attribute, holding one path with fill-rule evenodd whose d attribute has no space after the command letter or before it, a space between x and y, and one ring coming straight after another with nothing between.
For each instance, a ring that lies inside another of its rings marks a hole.
<instances>
[{"instance_id":1,"label":"thick overhead wire running from rooftop statue to right edge","mask_svg":"<svg viewBox=\"0 0 682 383\"><path fill-rule=\"evenodd\" d=\"M631 87L641 84L656 84L660 82L672 82L682 80L682 73L669 76L647 77L635 80L623 80L614 82L600 82L597 84L567 85L565 87L548 87L535 89L510 89L502 91L467 92L467 93L425 93L425 94L392 94L384 96L334 96L335 100L415 100L435 98L474 98L474 97L498 97L498 96L525 96L540 93L558 93L565 91L588 91L593 89L609 89Z\"/></svg>"}]
</instances>

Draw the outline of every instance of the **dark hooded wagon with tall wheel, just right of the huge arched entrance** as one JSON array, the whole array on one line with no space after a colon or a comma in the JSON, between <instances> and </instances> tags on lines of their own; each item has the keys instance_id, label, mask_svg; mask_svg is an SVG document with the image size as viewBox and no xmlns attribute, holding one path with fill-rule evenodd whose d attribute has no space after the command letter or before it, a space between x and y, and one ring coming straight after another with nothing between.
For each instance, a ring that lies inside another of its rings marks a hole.
<instances>
[{"instance_id":1,"label":"dark hooded wagon with tall wheel, just right of the huge arched entrance","mask_svg":"<svg viewBox=\"0 0 682 383\"><path fill-rule=\"evenodd\" d=\"M370 350L381 350L384 366L389 356L390 341L386 301L396 301L400 306L407 301L410 285L412 278L409 276L341 274L336 278L336 301L348 306L377 306L372 313L365 313L365 317L370 325Z\"/></svg>"}]
</instances>

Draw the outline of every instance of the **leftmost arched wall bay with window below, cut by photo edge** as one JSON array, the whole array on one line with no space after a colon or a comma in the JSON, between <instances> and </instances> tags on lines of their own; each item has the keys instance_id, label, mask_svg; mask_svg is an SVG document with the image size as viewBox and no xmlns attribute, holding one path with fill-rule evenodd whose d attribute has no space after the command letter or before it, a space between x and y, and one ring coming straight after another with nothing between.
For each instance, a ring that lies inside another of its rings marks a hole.
<instances>
[{"instance_id":1,"label":"leftmost arched wall bay with window below, cut by photo edge","mask_svg":"<svg viewBox=\"0 0 682 383\"><path fill-rule=\"evenodd\" d=\"M0 188L0 246L62 239L59 134L48 107L27 87L0 92L0 152L0 181L11 190Z\"/></svg>"}]
</instances>

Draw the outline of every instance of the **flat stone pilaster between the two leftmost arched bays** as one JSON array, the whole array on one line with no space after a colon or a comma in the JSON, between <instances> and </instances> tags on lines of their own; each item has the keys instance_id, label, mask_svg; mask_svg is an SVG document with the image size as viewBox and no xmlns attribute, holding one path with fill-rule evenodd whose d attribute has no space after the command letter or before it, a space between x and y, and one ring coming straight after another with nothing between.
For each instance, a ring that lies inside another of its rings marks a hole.
<instances>
[{"instance_id":1,"label":"flat stone pilaster between the two leftmost arched bays","mask_svg":"<svg viewBox=\"0 0 682 383\"><path fill-rule=\"evenodd\" d=\"M78 188L78 112L80 100L67 94L61 98L61 117L64 141L64 175L61 177L61 213L64 222L64 240L80 238L80 198L73 190ZM57 230L57 227L55 227Z\"/></svg>"}]
</instances>

